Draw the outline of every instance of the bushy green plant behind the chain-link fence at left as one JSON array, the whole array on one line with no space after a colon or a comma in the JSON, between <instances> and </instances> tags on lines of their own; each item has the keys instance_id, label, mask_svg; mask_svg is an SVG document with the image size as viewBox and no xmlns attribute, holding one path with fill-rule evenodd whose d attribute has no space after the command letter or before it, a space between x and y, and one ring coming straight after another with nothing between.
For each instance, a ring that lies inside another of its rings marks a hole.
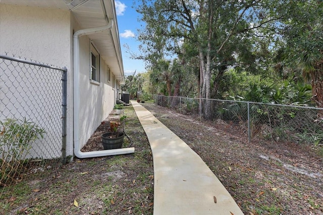
<instances>
[{"instance_id":1,"label":"bushy green plant behind the chain-link fence at left","mask_svg":"<svg viewBox=\"0 0 323 215\"><path fill-rule=\"evenodd\" d=\"M43 138L44 129L37 124L23 120L6 119L0 121L0 185L12 183L23 171L25 157L36 139Z\"/></svg>"}]
</instances>

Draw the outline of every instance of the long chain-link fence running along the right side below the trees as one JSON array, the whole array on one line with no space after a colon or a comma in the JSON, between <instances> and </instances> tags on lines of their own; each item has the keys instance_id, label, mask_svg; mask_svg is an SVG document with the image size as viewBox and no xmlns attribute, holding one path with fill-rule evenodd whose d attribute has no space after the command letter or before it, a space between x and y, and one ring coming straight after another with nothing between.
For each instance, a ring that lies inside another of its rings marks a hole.
<instances>
[{"instance_id":1,"label":"long chain-link fence running along the right side below the trees","mask_svg":"<svg viewBox=\"0 0 323 215\"><path fill-rule=\"evenodd\" d=\"M206 99L153 95L154 103L203 120ZM210 99L215 123L236 126L249 141L254 139L323 144L323 108Z\"/></svg>"}]
</instances>

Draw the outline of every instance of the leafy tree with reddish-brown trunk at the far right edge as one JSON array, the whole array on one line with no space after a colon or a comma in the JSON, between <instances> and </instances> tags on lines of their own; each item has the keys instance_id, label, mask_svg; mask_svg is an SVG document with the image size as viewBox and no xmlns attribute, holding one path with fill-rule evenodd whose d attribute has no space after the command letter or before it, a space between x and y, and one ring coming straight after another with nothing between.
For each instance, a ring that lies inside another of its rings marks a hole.
<instances>
[{"instance_id":1,"label":"leafy tree with reddish-brown trunk at the far right edge","mask_svg":"<svg viewBox=\"0 0 323 215\"><path fill-rule=\"evenodd\" d=\"M284 19L276 69L282 75L302 72L311 83L312 100L323 108L323 3L295 1L281 13Z\"/></svg>"}]
</instances>

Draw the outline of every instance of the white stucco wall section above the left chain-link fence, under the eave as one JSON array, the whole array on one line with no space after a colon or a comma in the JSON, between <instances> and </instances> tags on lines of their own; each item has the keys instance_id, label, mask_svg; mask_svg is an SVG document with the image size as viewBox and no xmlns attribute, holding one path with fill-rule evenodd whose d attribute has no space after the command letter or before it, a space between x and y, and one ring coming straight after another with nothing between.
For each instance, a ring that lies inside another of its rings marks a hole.
<instances>
[{"instance_id":1,"label":"white stucco wall section above the left chain-link fence, under the eave","mask_svg":"<svg viewBox=\"0 0 323 215\"><path fill-rule=\"evenodd\" d=\"M0 5L0 53L71 65L70 12Z\"/></svg>"}]
</instances>

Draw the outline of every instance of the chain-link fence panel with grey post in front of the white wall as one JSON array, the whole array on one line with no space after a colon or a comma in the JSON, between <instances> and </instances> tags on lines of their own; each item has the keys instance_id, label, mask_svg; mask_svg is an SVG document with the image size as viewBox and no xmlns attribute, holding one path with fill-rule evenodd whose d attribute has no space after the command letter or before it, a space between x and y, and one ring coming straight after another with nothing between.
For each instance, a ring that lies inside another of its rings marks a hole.
<instances>
[{"instance_id":1,"label":"chain-link fence panel with grey post in front of the white wall","mask_svg":"<svg viewBox=\"0 0 323 215\"><path fill-rule=\"evenodd\" d=\"M0 187L66 162L67 69L0 55Z\"/></svg>"}]
</instances>

